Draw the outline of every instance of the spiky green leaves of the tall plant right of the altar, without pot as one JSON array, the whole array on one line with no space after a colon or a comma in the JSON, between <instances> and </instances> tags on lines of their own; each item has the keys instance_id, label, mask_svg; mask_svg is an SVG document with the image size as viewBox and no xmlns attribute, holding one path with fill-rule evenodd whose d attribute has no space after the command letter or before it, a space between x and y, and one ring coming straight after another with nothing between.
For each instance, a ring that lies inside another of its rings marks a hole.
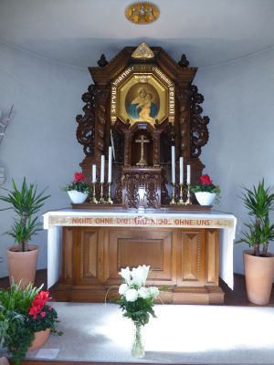
<instances>
[{"instance_id":1,"label":"spiky green leaves of the tall plant right of the altar, without pot","mask_svg":"<svg viewBox=\"0 0 274 365\"><path fill-rule=\"evenodd\" d=\"M269 212L274 210L274 193L270 187L265 187L264 179L258 183L258 187L253 186L253 190L246 187L243 189L241 199L252 219L245 224L247 231L242 232L237 243L246 243L253 247L254 255L267 256L269 241L274 239L274 224L269 221Z\"/></svg>"}]
</instances>

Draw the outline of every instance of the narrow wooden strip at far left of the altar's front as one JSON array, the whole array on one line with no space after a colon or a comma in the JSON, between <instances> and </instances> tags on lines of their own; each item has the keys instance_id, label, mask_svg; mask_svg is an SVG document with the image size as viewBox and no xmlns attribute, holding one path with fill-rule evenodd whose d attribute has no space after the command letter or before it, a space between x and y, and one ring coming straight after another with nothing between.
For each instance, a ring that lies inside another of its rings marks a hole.
<instances>
[{"instance_id":1,"label":"narrow wooden strip at far left of the altar's front","mask_svg":"<svg viewBox=\"0 0 274 365\"><path fill-rule=\"evenodd\" d=\"M62 279L66 283L73 279L73 227L63 228Z\"/></svg>"}]
</instances>

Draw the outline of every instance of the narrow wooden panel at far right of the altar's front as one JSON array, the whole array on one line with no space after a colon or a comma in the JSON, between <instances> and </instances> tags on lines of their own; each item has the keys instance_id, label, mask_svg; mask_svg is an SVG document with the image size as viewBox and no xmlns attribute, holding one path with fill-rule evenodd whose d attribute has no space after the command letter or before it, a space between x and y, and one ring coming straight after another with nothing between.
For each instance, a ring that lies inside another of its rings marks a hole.
<instances>
[{"instance_id":1,"label":"narrow wooden panel at far right of the altar's front","mask_svg":"<svg viewBox=\"0 0 274 365\"><path fill-rule=\"evenodd\" d=\"M205 231L205 284L218 285L219 281L219 231Z\"/></svg>"}]
</instances>

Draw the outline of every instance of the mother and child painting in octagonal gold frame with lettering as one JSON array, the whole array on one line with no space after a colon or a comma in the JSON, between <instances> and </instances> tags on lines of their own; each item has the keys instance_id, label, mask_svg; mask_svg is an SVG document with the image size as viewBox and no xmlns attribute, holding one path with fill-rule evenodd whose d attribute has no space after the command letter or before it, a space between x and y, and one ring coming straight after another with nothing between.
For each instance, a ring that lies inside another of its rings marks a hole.
<instances>
[{"instance_id":1,"label":"mother and child painting in octagonal gold frame with lettering","mask_svg":"<svg viewBox=\"0 0 274 365\"><path fill-rule=\"evenodd\" d=\"M111 121L147 122L154 126L174 121L174 83L160 68L146 66L150 72L134 65L126 68L111 85Z\"/></svg>"}]
</instances>

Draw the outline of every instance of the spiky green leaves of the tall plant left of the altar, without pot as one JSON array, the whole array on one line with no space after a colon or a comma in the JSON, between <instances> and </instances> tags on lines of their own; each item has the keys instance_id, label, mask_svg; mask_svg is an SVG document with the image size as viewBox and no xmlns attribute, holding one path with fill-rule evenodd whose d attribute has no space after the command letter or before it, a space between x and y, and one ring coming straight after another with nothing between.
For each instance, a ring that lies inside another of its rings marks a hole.
<instances>
[{"instance_id":1,"label":"spiky green leaves of the tall plant left of the altar, without pot","mask_svg":"<svg viewBox=\"0 0 274 365\"><path fill-rule=\"evenodd\" d=\"M12 180L12 185L13 190L1 187L7 192L7 195L1 195L0 200L9 204L7 208L1 210L13 209L17 214L14 224L5 234L11 235L19 244L19 250L25 252L31 237L42 230L42 224L34 215L37 214L50 195L44 195L46 189L37 193L37 185L27 184L26 178L24 178L21 188L17 187L14 180Z\"/></svg>"}]
</instances>

